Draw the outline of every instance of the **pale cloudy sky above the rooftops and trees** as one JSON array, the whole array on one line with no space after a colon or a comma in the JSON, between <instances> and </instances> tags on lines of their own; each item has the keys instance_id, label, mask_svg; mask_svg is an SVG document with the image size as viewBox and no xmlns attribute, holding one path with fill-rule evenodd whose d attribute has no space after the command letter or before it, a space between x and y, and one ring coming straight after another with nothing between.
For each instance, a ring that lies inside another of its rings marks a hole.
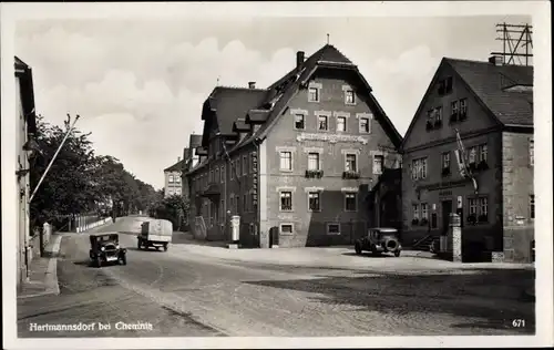
<instances>
[{"instance_id":1,"label":"pale cloudy sky above the rooftops and trees","mask_svg":"<svg viewBox=\"0 0 554 350\"><path fill-rule=\"evenodd\" d=\"M527 17L49 19L19 21L16 55L33 69L37 112L92 132L155 188L177 162L220 85L267 87L327 41L358 65L404 135L443 56L486 61L495 24Z\"/></svg>"}]
</instances>

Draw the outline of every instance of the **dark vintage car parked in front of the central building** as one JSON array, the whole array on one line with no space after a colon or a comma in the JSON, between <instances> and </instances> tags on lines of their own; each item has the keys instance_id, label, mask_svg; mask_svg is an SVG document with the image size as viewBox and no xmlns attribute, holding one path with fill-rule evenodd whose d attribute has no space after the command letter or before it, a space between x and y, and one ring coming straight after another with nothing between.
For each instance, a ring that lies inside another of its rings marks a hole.
<instances>
[{"instance_id":1,"label":"dark vintage car parked in front of the central building","mask_svg":"<svg viewBox=\"0 0 554 350\"><path fill-rule=\"evenodd\" d=\"M368 229L366 237L359 238L355 243L356 254L367 250L372 254L393 253L400 256L402 246L400 245L399 233L396 228L376 227Z\"/></svg>"}]
</instances>

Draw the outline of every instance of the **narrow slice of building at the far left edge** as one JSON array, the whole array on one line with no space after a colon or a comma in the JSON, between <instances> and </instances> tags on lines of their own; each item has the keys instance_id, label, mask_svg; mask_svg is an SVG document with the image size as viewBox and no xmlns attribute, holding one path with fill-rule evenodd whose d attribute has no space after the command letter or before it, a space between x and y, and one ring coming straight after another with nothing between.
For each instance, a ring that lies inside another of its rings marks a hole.
<instances>
[{"instance_id":1,"label":"narrow slice of building at the far left edge","mask_svg":"<svg viewBox=\"0 0 554 350\"><path fill-rule=\"evenodd\" d=\"M17 109L17 164L16 186L18 188L18 290L27 280L29 262L32 259L30 247L30 159L33 152L34 134L37 133L37 115L34 112L34 89L32 70L19 58L14 58L16 70L16 109Z\"/></svg>"}]
</instances>

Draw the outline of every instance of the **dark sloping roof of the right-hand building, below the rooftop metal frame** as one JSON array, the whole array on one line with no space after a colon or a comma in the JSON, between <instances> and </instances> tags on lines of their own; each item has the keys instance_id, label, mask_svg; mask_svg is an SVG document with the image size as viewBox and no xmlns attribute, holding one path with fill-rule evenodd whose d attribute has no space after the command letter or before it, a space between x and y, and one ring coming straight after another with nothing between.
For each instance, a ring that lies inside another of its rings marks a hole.
<instances>
[{"instance_id":1,"label":"dark sloping roof of the right-hand building, below the rooftop metal frame","mask_svg":"<svg viewBox=\"0 0 554 350\"><path fill-rule=\"evenodd\" d=\"M533 126L533 91L506 90L514 85L533 86L533 66L449 58L444 61L502 124Z\"/></svg>"}]
</instances>

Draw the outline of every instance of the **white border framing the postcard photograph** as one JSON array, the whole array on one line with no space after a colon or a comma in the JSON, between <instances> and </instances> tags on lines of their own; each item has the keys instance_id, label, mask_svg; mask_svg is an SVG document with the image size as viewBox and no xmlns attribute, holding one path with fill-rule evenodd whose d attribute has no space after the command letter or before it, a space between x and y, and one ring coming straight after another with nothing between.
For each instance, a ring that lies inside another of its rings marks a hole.
<instances>
[{"instance_id":1,"label":"white border framing the postcard photograph","mask_svg":"<svg viewBox=\"0 0 554 350\"><path fill-rule=\"evenodd\" d=\"M551 19L547 1L456 1L456 2L219 2L219 3L1 3L1 143L2 143L2 266L3 327L8 349L177 349L189 348L368 348L368 347L544 347L553 343L553 236L552 236L552 85ZM17 339L16 316L16 220L17 191L12 174L16 150L13 89L13 30L21 19L54 18L212 18L229 16L267 17L429 17L429 16L510 16L533 17L535 63L535 173L537 216L536 245L536 336L519 337L334 337L334 338L94 338ZM538 93L540 92L540 93ZM548 150L548 151L546 151ZM543 151L543 152L541 152Z\"/></svg>"}]
</instances>

